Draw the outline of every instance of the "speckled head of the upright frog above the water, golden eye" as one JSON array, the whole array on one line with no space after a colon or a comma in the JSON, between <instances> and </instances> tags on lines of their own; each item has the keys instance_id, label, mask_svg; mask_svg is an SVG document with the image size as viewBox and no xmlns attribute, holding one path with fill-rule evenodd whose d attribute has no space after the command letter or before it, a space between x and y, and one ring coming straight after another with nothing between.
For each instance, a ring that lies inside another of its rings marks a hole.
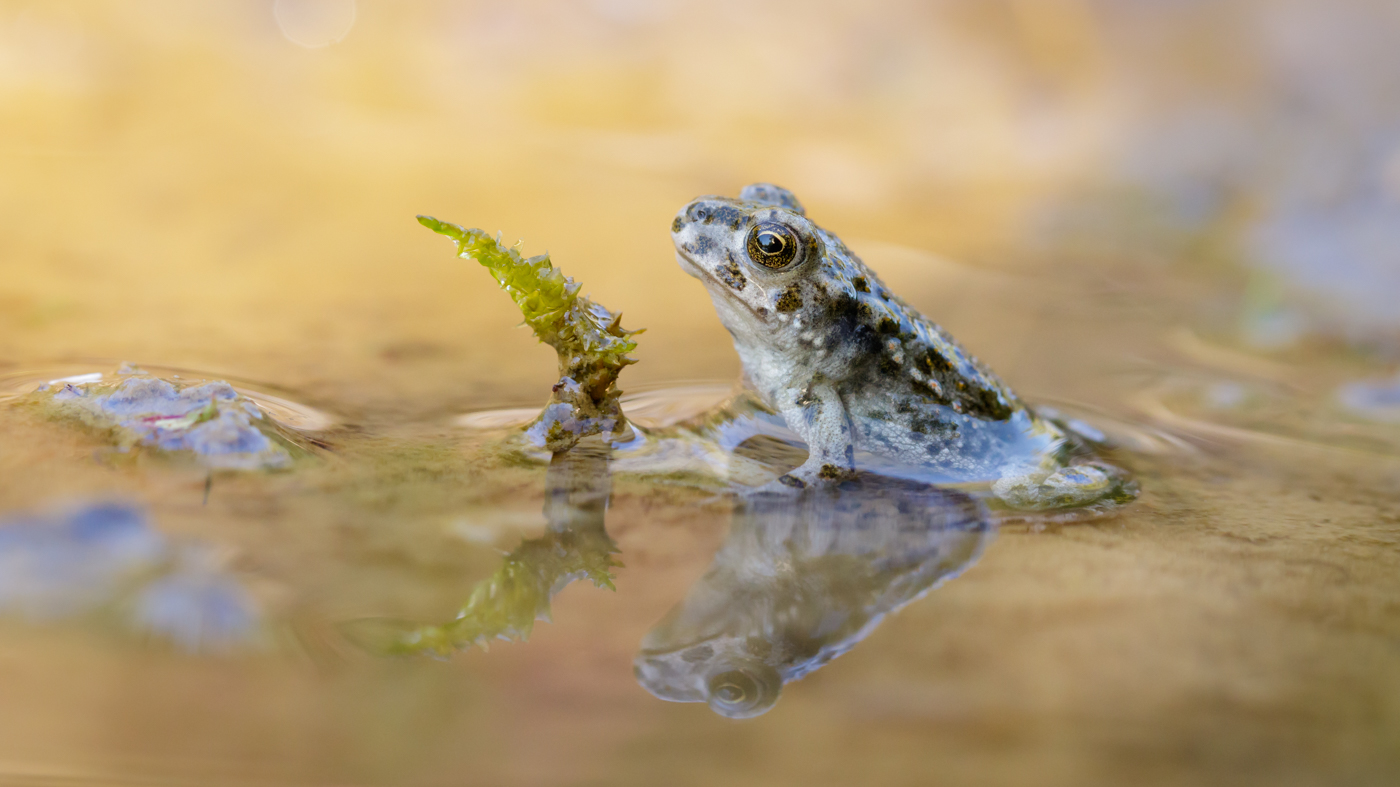
<instances>
[{"instance_id":1,"label":"speckled head of the upright frog above the water, golden eye","mask_svg":"<svg viewBox=\"0 0 1400 787\"><path fill-rule=\"evenodd\" d=\"M706 196L671 223L676 259L704 283L735 333L787 322L806 302L806 281L826 269L827 235L792 192L753 183L739 199Z\"/></svg>"}]
</instances>

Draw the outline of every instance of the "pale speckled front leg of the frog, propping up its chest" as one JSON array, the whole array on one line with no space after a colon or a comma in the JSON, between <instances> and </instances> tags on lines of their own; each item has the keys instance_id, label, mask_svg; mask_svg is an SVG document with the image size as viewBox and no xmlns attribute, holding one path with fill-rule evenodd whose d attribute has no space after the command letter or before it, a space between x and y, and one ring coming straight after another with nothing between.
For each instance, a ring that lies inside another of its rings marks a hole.
<instances>
[{"instance_id":1,"label":"pale speckled front leg of the frog, propping up its chest","mask_svg":"<svg viewBox=\"0 0 1400 787\"><path fill-rule=\"evenodd\" d=\"M855 430L836 386L812 381L805 388L785 392L778 410L788 429L806 443L806 462L783 475L776 483L801 489L813 483L840 480L855 471Z\"/></svg>"}]
</instances>

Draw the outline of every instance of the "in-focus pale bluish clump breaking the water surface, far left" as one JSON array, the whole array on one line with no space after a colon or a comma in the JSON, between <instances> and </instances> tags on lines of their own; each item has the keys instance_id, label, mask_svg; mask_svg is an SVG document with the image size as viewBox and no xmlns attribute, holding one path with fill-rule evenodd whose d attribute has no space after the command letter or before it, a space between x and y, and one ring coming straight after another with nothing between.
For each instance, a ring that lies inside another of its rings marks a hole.
<instances>
[{"instance_id":1,"label":"in-focus pale bluish clump breaking the water surface, far left","mask_svg":"<svg viewBox=\"0 0 1400 787\"><path fill-rule=\"evenodd\" d=\"M55 381L32 395L50 415L105 430L119 450L189 452L211 469L291 464L290 443L249 398L227 382L181 384L122 367L115 378Z\"/></svg>"}]
</instances>

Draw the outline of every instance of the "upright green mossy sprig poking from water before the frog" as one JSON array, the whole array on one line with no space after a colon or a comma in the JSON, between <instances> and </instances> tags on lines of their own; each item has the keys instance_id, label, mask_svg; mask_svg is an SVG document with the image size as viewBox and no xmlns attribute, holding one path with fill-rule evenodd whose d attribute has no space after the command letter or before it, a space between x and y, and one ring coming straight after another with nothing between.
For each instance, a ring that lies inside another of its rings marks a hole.
<instances>
[{"instance_id":1,"label":"upright green mossy sprig poking from water before the frog","mask_svg":"<svg viewBox=\"0 0 1400 787\"><path fill-rule=\"evenodd\" d=\"M559 353L559 382L545 410L526 427L535 445L567 451L589 434L620 436L626 420L615 388L640 330L622 328L613 314L578 294L580 284L554 267L549 255L522 258L517 244L501 245L482 230L419 216L419 223L452 238L459 258L482 263L519 307L525 325Z\"/></svg>"}]
</instances>

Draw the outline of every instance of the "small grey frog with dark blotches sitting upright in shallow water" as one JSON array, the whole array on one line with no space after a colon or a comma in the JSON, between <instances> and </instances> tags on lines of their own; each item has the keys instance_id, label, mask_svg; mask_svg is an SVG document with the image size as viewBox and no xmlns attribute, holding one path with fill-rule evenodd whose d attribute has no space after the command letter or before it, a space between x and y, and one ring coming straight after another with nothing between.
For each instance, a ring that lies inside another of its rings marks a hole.
<instances>
[{"instance_id":1,"label":"small grey frog with dark blotches sitting upright in shallow water","mask_svg":"<svg viewBox=\"0 0 1400 787\"><path fill-rule=\"evenodd\" d=\"M840 483L881 468L988 485L1011 508L1071 508L1131 494L1092 440L1025 403L946 330L896 295L788 189L701 196L671 224L676 260L734 339L743 386L808 448L766 490Z\"/></svg>"}]
</instances>

